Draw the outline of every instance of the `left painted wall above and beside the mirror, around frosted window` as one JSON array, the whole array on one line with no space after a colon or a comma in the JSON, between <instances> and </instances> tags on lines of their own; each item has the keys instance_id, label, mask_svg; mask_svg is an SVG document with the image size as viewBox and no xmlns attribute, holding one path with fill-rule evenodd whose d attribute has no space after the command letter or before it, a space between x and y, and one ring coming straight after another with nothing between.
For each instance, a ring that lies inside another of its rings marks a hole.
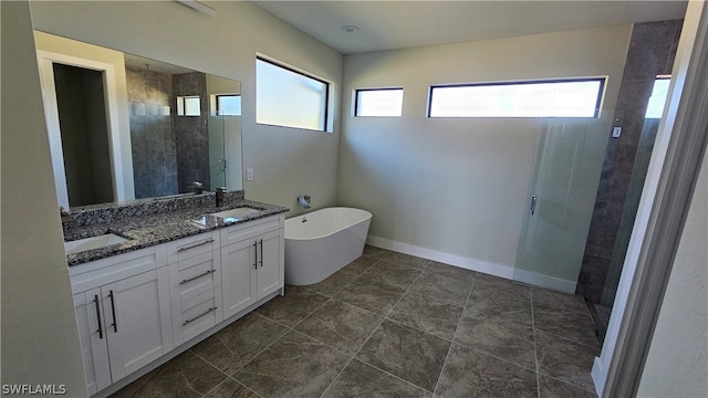
<instances>
[{"instance_id":1,"label":"left painted wall above and beside the mirror, around frosted window","mask_svg":"<svg viewBox=\"0 0 708 398\"><path fill-rule=\"evenodd\" d=\"M334 134L256 124L256 54L333 83L339 98L343 56L244 1L207 2L209 17L174 1L32 2L34 28L241 82L243 166L248 199L290 207L310 195L314 208L336 198L339 114Z\"/></svg>"}]
</instances>

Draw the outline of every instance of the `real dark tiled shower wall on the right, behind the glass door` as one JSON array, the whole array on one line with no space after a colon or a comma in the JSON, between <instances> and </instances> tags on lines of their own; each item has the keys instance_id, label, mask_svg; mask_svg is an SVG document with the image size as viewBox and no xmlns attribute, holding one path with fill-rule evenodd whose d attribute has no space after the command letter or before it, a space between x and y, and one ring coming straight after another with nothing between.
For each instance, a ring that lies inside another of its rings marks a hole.
<instances>
[{"instance_id":1,"label":"real dark tiled shower wall on the right, behind the glass door","mask_svg":"<svg viewBox=\"0 0 708 398\"><path fill-rule=\"evenodd\" d=\"M658 127L644 115L656 75L671 73L681 25L680 20L637 23L632 32L614 115L622 135L607 144L577 281L576 293L592 303L616 290Z\"/></svg>"}]
</instances>

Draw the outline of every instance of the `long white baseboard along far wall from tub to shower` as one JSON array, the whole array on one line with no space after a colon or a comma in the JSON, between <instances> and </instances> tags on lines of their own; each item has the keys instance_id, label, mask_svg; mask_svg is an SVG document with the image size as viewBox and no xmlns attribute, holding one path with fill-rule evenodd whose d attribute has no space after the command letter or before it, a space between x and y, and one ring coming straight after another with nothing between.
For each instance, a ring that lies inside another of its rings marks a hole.
<instances>
[{"instance_id":1,"label":"long white baseboard along far wall from tub to shower","mask_svg":"<svg viewBox=\"0 0 708 398\"><path fill-rule=\"evenodd\" d=\"M461 255L444 253L437 250L420 248L410 243L397 242L384 238L368 235L366 243L376 248L388 249L399 253L410 254L427 260L477 271L512 281L528 283L534 286L551 289L564 293L575 294L576 282L570 282L553 276L546 276L529 271L517 270L513 266L490 263Z\"/></svg>"}]
</instances>

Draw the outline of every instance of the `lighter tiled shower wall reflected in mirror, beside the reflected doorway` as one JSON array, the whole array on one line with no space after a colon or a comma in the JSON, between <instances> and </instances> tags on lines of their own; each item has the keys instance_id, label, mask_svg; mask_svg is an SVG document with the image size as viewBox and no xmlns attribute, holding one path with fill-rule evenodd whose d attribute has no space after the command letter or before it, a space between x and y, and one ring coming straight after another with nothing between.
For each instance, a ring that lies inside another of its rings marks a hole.
<instances>
[{"instance_id":1,"label":"lighter tiled shower wall reflected in mirror, beside the reflected doorway","mask_svg":"<svg viewBox=\"0 0 708 398\"><path fill-rule=\"evenodd\" d=\"M178 193L169 74L126 66L135 198Z\"/></svg>"}]
</instances>

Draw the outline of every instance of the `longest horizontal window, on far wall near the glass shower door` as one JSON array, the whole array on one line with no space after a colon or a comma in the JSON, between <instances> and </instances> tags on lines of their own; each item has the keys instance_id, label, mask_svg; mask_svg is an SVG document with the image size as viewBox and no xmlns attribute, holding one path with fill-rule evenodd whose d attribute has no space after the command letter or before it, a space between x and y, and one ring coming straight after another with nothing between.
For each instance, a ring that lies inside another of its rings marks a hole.
<instances>
[{"instance_id":1,"label":"longest horizontal window, on far wall near the glass shower door","mask_svg":"<svg viewBox=\"0 0 708 398\"><path fill-rule=\"evenodd\" d=\"M429 117L597 117L605 78L431 86Z\"/></svg>"}]
</instances>

